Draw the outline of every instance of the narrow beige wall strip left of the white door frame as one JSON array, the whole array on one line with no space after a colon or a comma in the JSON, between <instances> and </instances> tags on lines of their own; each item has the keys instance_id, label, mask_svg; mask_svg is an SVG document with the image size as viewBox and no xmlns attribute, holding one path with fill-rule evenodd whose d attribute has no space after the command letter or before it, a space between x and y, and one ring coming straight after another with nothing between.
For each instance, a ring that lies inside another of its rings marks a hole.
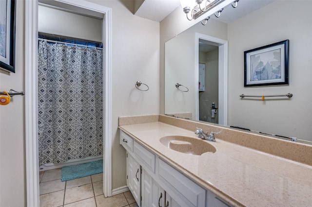
<instances>
[{"instance_id":1,"label":"narrow beige wall strip left of the white door frame","mask_svg":"<svg viewBox=\"0 0 312 207\"><path fill-rule=\"evenodd\" d=\"M24 1L16 9L16 73L0 70L0 91L24 91ZM0 105L0 207L26 205L24 97Z\"/></svg>"}]
</instances>

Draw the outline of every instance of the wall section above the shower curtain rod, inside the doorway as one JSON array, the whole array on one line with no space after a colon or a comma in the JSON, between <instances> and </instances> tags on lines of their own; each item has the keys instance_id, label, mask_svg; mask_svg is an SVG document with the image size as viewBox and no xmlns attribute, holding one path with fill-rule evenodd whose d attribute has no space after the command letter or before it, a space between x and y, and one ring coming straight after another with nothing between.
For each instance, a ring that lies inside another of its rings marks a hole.
<instances>
[{"instance_id":1,"label":"wall section above the shower curtain rod, inside the doorway","mask_svg":"<svg viewBox=\"0 0 312 207\"><path fill-rule=\"evenodd\" d=\"M39 5L38 32L102 42L102 20Z\"/></svg>"}]
</instances>

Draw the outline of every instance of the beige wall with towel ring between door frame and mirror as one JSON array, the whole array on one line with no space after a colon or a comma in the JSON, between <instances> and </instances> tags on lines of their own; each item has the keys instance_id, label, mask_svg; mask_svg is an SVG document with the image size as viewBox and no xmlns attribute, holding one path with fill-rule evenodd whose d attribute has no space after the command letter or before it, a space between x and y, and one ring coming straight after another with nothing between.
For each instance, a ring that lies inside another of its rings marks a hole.
<instances>
[{"instance_id":1,"label":"beige wall with towel ring between door frame and mirror","mask_svg":"<svg viewBox=\"0 0 312 207\"><path fill-rule=\"evenodd\" d=\"M159 114L159 22L134 16L128 9L133 9L132 1L93 2L112 8L112 188L116 189L126 185L118 117ZM138 90L137 81L150 89Z\"/></svg>"}]
</instances>

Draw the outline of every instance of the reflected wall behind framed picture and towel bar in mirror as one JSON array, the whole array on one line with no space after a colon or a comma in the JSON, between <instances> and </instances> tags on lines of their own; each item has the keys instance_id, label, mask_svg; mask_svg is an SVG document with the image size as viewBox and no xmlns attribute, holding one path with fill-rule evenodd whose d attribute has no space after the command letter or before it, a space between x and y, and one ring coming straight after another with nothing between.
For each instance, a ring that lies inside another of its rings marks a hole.
<instances>
[{"instance_id":1,"label":"reflected wall behind framed picture and towel bar in mirror","mask_svg":"<svg viewBox=\"0 0 312 207\"><path fill-rule=\"evenodd\" d=\"M312 1L277 0L229 24L229 125L312 141L311 7ZM244 87L244 51L285 39L289 86ZM264 102L239 97L287 93L293 97Z\"/></svg>"}]
</instances>

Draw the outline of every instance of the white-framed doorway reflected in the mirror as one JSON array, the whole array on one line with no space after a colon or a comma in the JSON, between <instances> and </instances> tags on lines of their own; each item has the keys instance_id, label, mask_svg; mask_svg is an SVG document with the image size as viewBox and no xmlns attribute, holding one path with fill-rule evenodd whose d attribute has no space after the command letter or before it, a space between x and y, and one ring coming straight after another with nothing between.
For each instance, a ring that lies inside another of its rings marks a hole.
<instances>
[{"instance_id":1,"label":"white-framed doorway reflected in the mirror","mask_svg":"<svg viewBox=\"0 0 312 207\"><path fill-rule=\"evenodd\" d=\"M227 125L227 40L196 33L196 120Z\"/></svg>"}]
</instances>

